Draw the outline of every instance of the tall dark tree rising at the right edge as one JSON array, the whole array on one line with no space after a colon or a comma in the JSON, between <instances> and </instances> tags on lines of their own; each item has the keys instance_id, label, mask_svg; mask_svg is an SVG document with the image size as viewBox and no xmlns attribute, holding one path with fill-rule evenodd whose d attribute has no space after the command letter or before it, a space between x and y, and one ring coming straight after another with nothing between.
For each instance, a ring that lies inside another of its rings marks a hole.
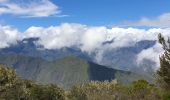
<instances>
[{"instance_id":1,"label":"tall dark tree rising at the right edge","mask_svg":"<svg viewBox=\"0 0 170 100\"><path fill-rule=\"evenodd\" d=\"M162 44L164 53L160 56L160 69L157 71L160 85L170 91L170 38L166 41L165 38L159 34L159 43Z\"/></svg>"}]
</instances>

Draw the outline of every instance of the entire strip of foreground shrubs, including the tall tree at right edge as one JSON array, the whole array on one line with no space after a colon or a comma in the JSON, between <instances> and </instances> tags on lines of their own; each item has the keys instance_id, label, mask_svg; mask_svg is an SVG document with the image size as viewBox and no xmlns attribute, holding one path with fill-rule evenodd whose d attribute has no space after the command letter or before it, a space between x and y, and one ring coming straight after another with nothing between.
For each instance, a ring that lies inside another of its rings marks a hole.
<instances>
[{"instance_id":1,"label":"entire strip of foreground shrubs, including the tall tree at right edge","mask_svg":"<svg viewBox=\"0 0 170 100\"><path fill-rule=\"evenodd\" d=\"M157 71L159 84L137 80L125 86L117 80L91 81L64 90L24 80L15 70L0 65L0 100L170 100L170 40L159 35L159 42L165 50Z\"/></svg>"}]
</instances>

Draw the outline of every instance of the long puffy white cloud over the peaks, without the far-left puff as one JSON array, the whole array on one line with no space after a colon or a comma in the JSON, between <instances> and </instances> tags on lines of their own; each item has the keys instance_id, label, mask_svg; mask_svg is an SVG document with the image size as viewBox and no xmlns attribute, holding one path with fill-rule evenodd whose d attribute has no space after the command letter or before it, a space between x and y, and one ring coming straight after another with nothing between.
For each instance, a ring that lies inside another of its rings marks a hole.
<instances>
[{"instance_id":1,"label":"long puffy white cloud over the peaks, without the far-left puff","mask_svg":"<svg viewBox=\"0 0 170 100\"><path fill-rule=\"evenodd\" d=\"M121 48L134 46L142 40L157 40L158 33L168 36L170 28L106 28L104 26L94 27L82 24L64 23L60 26L30 27L24 37L39 37L38 44L47 49L60 49L62 47L78 46L82 51L93 52L101 49L103 43L110 43L109 48Z\"/></svg>"}]
</instances>

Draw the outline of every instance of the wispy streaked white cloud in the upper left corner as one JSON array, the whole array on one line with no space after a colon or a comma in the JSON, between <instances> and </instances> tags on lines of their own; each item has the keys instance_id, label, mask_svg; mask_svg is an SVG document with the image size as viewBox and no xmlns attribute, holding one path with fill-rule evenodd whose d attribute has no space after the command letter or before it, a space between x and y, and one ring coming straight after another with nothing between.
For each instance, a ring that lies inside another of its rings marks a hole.
<instances>
[{"instance_id":1,"label":"wispy streaked white cloud in the upper left corner","mask_svg":"<svg viewBox=\"0 0 170 100\"><path fill-rule=\"evenodd\" d=\"M59 16L59 7L50 0L1 0L0 14L13 14L21 17Z\"/></svg>"}]
</instances>

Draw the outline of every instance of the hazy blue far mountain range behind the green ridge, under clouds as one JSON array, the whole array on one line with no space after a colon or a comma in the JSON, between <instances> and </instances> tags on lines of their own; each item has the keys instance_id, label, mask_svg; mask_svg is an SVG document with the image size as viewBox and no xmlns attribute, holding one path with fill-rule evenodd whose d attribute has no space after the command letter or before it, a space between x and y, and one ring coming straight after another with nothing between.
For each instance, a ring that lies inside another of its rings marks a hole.
<instances>
[{"instance_id":1,"label":"hazy blue far mountain range behind the green ridge, under clouds","mask_svg":"<svg viewBox=\"0 0 170 100\"><path fill-rule=\"evenodd\" d=\"M77 47L72 48L61 48L61 49L44 49L43 46L36 45L38 38L29 38L22 41L18 41L16 45L0 49L0 52L5 53L16 53L24 56L39 57L45 60L53 61L66 56L76 56L87 61L91 61L100 65L109 66L110 68L116 68L125 71L132 71L136 73L148 73L152 72L155 62L145 60L142 64L137 63L137 54L142 50L148 49L155 45L156 41L140 41L131 47L122 47L115 49L108 49L102 54L102 59L98 61L98 50L88 54L82 52ZM107 45L113 41L104 43ZM145 73L145 74L146 74Z\"/></svg>"}]
</instances>

